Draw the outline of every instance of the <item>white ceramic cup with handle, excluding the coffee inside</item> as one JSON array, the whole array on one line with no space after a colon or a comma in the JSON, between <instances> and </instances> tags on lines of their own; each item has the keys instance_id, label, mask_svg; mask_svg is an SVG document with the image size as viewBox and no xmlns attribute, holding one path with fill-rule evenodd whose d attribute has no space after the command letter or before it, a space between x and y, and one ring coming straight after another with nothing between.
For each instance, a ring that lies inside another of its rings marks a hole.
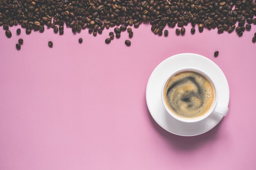
<instances>
[{"instance_id":1,"label":"white ceramic cup with handle, excluding the coffee inside","mask_svg":"<svg viewBox=\"0 0 256 170\"><path fill-rule=\"evenodd\" d=\"M204 77L206 77L211 84L213 85L214 88L214 92L215 92L215 97L213 100L213 103L211 104L211 107L209 108L209 110L207 110L206 113L204 113L202 116L200 117L196 117L196 118L183 118L183 117L178 117L177 115L175 115L175 113L166 105L166 102L164 101L164 88L166 86L166 84L168 83L169 79L171 77L173 77L173 75L176 75L178 73L184 72L184 71L193 71L196 73L199 73L201 75L203 75ZM209 77L204 71L198 69L198 68L191 68L191 67L186 67L186 68L182 68L179 69L177 71L175 71L175 73L172 73L165 81L164 84L162 86L162 102L164 104L164 108L167 110L167 112L174 117L175 119L179 120L179 121L183 121L183 122L188 122L188 123L192 123L192 122L197 122L197 121L201 121L205 118L207 118L211 113L217 113L220 114L222 116L226 116L227 112L229 110L229 108L227 108L226 106L221 105L220 103L218 103L218 89L216 87L216 84L213 82L213 80L211 79L211 77Z\"/></svg>"}]
</instances>

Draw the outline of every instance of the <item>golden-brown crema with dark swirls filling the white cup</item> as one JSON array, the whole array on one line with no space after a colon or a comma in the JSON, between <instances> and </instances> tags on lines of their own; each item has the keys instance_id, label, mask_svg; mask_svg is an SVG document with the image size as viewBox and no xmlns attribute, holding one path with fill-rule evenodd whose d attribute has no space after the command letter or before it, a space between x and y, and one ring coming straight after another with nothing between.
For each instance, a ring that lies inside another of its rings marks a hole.
<instances>
[{"instance_id":1,"label":"golden-brown crema with dark swirls filling the white cup","mask_svg":"<svg viewBox=\"0 0 256 170\"><path fill-rule=\"evenodd\" d=\"M164 102L175 115L183 118L202 116L211 107L214 95L211 82L194 71L173 75L164 87Z\"/></svg>"}]
</instances>

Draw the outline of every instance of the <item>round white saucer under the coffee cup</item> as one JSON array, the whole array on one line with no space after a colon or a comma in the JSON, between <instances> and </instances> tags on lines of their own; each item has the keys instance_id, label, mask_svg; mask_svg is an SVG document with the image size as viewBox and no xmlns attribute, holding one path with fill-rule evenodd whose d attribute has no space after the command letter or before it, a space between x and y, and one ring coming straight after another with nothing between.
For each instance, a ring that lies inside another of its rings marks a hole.
<instances>
[{"instance_id":1,"label":"round white saucer under the coffee cup","mask_svg":"<svg viewBox=\"0 0 256 170\"><path fill-rule=\"evenodd\" d=\"M180 136L195 136L211 130L223 116L211 113L206 119L195 123L184 123L176 120L165 110L161 99L164 80L183 67L194 67L205 71L216 82L218 88L218 103L223 106L229 104L229 85L221 69L207 57L193 53L173 55L161 62L152 72L146 88L146 102L153 119L162 128Z\"/></svg>"}]
</instances>

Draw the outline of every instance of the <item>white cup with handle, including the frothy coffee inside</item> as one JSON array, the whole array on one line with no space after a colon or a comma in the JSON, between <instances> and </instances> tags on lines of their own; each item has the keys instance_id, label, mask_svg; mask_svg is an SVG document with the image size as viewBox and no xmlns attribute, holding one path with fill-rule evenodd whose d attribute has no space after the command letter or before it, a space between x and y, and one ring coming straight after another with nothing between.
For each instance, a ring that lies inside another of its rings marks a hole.
<instances>
[{"instance_id":1,"label":"white cup with handle, including the frothy coffee inside","mask_svg":"<svg viewBox=\"0 0 256 170\"><path fill-rule=\"evenodd\" d=\"M166 111L183 122L197 122L210 114L226 116L228 108L218 103L213 79L198 68L182 68L164 81L162 103Z\"/></svg>"}]
</instances>

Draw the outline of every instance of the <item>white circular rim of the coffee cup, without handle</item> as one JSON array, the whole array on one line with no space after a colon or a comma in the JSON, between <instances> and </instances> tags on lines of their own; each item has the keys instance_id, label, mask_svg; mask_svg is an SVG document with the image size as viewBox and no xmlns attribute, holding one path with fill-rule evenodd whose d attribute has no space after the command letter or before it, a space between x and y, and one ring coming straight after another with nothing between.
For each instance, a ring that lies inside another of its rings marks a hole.
<instances>
[{"instance_id":1,"label":"white circular rim of the coffee cup, without handle","mask_svg":"<svg viewBox=\"0 0 256 170\"><path fill-rule=\"evenodd\" d=\"M197 73L200 73L202 75L204 75L212 84L213 88L214 88L214 92L215 92L215 99L213 101L213 103L211 104L211 107L207 110L206 113L204 113L202 116L200 117L196 117L196 118L182 118L179 117L177 115L175 115L175 113L173 113L173 111L171 109L168 108L168 106L166 106L165 101L164 101L164 88L166 86L166 83L168 82L168 80L175 74L177 73L181 73L184 71L195 71ZM182 121L182 122L186 122L186 123L193 123L193 122L198 122L201 121L205 118L207 118L214 110L214 108L217 105L217 100L218 100L218 90L217 90L217 86L216 84L213 82L213 80L211 79L211 77L209 77L209 75L207 75L207 73L205 73L204 71L198 69L198 68L194 68L194 67L184 67L184 68L180 68L177 71L175 71L174 73L171 73L171 75L169 75L165 81L164 84L162 86L162 91L161 91L161 99L162 99L162 103L164 105L164 108L166 109L166 111L169 113L169 115L171 115L173 118Z\"/></svg>"}]
</instances>

